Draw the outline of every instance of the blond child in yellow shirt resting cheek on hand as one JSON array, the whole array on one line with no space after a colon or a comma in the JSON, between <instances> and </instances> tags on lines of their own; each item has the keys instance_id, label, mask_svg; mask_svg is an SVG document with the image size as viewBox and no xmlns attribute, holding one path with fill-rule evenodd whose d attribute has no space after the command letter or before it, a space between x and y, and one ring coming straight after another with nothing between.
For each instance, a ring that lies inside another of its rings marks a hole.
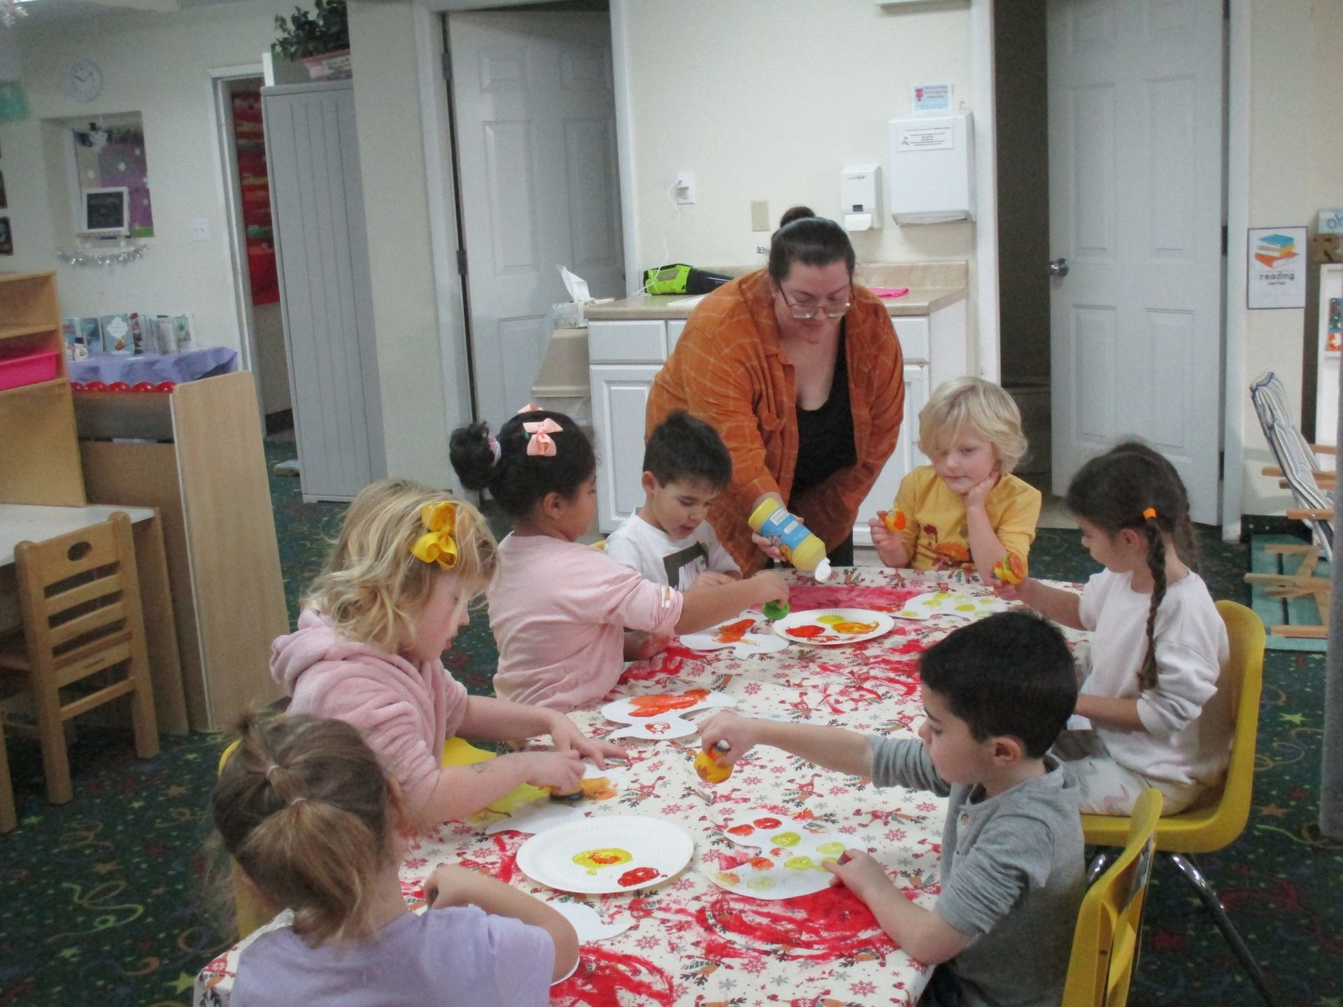
<instances>
[{"instance_id":1,"label":"blond child in yellow shirt resting cheek on hand","mask_svg":"<svg viewBox=\"0 0 1343 1007\"><path fill-rule=\"evenodd\" d=\"M1011 396L980 377L943 383L919 412L919 450L932 465L909 473L892 509L868 522L881 561L1025 576L1041 497L1011 474L1026 454Z\"/></svg>"}]
</instances>

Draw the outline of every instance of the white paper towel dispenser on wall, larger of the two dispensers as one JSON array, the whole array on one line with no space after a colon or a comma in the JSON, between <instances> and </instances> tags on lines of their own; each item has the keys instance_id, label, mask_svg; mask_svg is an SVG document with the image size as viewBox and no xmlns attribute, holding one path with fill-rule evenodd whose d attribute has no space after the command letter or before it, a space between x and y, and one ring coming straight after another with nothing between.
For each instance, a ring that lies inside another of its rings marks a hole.
<instances>
[{"instance_id":1,"label":"white paper towel dispenser on wall, larger of the two dispensers","mask_svg":"<svg viewBox=\"0 0 1343 1007\"><path fill-rule=\"evenodd\" d=\"M886 124L888 205L897 224L975 219L975 132L968 111Z\"/></svg>"}]
</instances>

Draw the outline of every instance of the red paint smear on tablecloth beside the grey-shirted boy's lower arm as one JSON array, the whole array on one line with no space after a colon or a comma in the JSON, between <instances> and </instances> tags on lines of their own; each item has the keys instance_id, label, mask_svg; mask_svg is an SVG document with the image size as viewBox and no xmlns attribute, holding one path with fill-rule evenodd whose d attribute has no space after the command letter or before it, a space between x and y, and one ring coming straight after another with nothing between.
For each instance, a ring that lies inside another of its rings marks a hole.
<instances>
[{"instance_id":1,"label":"red paint smear on tablecloth beside the grey-shirted boy's lower arm","mask_svg":"<svg viewBox=\"0 0 1343 1007\"><path fill-rule=\"evenodd\" d=\"M700 909L696 920L710 933L787 948L794 957L811 952L804 956L831 960L865 952L884 960L896 947L872 910L842 886L787 902L724 894Z\"/></svg>"}]
</instances>

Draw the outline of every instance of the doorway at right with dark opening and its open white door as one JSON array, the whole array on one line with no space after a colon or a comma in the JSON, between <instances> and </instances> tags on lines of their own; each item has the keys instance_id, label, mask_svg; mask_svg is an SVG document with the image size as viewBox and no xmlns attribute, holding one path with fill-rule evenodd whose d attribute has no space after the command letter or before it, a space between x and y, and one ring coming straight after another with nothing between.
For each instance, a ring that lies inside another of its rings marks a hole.
<instances>
[{"instance_id":1,"label":"doorway at right with dark opening and its open white door","mask_svg":"<svg viewBox=\"0 0 1343 1007\"><path fill-rule=\"evenodd\" d=\"M1215 0L995 4L1002 380L1023 478L1138 436L1219 517L1225 23Z\"/></svg>"}]
</instances>

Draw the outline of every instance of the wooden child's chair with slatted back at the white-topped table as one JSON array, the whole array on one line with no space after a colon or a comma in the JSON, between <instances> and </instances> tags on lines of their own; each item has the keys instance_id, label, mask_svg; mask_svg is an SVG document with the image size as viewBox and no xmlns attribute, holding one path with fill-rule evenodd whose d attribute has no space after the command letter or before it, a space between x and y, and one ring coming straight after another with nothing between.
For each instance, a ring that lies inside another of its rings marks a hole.
<instances>
[{"instance_id":1,"label":"wooden child's chair with slatted back at the white-topped table","mask_svg":"<svg viewBox=\"0 0 1343 1007\"><path fill-rule=\"evenodd\" d=\"M71 717L129 694L136 753L141 759L158 755L130 518L117 512L79 532L19 542L13 557L23 636L0 639L0 674L26 678L36 709L47 798L64 804L74 796L64 737ZM86 696L62 698L62 689L121 665L125 677L99 683Z\"/></svg>"}]
</instances>

